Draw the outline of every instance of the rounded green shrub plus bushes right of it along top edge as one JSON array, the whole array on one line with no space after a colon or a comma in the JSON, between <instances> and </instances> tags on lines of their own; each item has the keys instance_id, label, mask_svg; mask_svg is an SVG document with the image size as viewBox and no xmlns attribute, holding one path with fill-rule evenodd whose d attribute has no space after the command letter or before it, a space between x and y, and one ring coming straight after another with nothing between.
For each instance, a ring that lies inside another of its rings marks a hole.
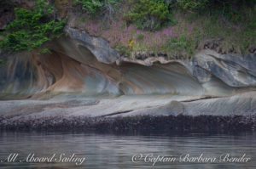
<instances>
[{"instance_id":1,"label":"rounded green shrub plus bushes right of it along top edge","mask_svg":"<svg viewBox=\"0 0 256 169\"><path fill-rule=\"evenodd\" d=\"M239 20L241 8L252 8L256 0L130 0L130 11L125 20L137 28L149 31L163 25L176 24L173 11L183 10L189 14L219 14L231 21Z\"/></svg>"}]
</instances>

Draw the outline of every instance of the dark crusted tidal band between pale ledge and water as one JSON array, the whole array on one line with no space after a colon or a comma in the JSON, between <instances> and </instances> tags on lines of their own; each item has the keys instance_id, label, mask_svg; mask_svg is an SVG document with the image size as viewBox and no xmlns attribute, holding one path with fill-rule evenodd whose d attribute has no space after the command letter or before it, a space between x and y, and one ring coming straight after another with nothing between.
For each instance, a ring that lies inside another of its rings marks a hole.
<instances>
[{"instance_id":1,"label":"dark crusted tidal band between pale ledge and water","mask_svg":"<svg viewBox=\"0 0 256 169\"><path fill-rule=\"evenodd\" d=\"M137 115L126 117L55 116L9 120L1 131L78 132L254 132L256 115Z\"/></svg>"}]
</instances>

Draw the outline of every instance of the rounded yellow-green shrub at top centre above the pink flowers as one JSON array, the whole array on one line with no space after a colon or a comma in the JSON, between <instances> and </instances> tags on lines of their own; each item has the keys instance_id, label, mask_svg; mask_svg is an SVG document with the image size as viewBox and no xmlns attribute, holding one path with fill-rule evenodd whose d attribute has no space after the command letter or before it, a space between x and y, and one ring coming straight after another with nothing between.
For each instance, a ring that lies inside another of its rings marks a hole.
<instances>
[{"instance_id":1,"label":"rounded yellow-green shrub at top centre above the pink flowers","mask_svg":"<svg viewBox=\"0 0 256 169\"><path fill-rule=\"evenodd\" d=\"M154 31L171 20L168 5L162 0L134 0L134 7L125 17L139 29Z\"/></svg>"}]
</instances>

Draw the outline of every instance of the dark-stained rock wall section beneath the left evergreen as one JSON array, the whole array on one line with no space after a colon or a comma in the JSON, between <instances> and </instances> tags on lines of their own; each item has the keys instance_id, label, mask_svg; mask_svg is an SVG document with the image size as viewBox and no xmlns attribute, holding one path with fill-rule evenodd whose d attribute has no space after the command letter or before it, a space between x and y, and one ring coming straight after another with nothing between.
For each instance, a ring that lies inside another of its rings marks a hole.
<instances>
[{"instance_id":1,"label":"dark-stained rock wall section beneath the left evergreen","mask_svg":"<svg viewBox=\"0 0 256 169\"><path fill-rule=\"evenodd\" d=\"M46 87L38 85L38 69L32 54L2 53L2 57L5 58L6 64L0 65L0 99L11 99L16 95L19 98L18 96L37 93Z\"/></svg>"}]
</instances>

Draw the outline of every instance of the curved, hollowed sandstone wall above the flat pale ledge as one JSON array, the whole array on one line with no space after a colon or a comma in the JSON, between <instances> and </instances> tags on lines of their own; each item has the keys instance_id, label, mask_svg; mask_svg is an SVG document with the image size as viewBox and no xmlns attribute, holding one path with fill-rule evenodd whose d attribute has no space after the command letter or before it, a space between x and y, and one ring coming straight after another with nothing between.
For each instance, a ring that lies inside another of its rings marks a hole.
<instances>
[{"instance_id":1,"label":"curved, hollowed sandstone wall above the flat pale ledge","mask_svg":"<svg viewBox=\"0 0 256 169\"><path fill-rule=\"evenodd\" d=\"M256 84L256 56L201 51L192 61L122 59L100 37L66 29L68 37L48 45L51 54L6 56L1 93L102 93L222 96ZM116 64L117 63L117 64Z\"/></svg>"}]
</instances>

